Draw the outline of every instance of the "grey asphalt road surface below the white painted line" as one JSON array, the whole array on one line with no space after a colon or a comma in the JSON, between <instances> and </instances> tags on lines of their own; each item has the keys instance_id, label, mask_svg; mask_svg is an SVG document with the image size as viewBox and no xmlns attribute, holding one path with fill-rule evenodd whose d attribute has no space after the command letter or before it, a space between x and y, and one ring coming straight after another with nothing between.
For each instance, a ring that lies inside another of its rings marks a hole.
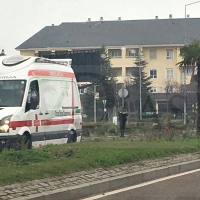
<instances>
[{"instance_id":1,"label":"grey asphalt road surface below the white painted line","mask_svg":"<svg viewBox=\"0 0 200 200\"><path fill-rule=\"evenodd\" d=\"M158 181L158 180L156 180ZM98 200L200 200L200 171L121 191ZM142 185L142 184L141 184ZM120 192L121 191L121 192ZM117 192L117 191L115 191ZM114 192L113 192L114 193ZM109 194L109 193L108 193ZM94 198L91 198L91 200Z\"/></svg>"}]
</instances>

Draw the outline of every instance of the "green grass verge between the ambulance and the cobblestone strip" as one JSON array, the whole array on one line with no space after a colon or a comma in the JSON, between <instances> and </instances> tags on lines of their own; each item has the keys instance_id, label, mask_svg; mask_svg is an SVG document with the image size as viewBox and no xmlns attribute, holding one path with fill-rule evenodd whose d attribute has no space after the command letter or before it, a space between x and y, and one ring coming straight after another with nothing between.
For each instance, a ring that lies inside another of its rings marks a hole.
<instances>
[{"instance_id":1,"label":"green grass verge between the ambulance and the cobblestone strip","mask_svg":"<svg viewBox=\"0 0 200 200\"><path fill-rule=\"evenodd\" d=\"M0 185L200 150L200 139L88 141L0 153Z\"/></svg>"}]
</instances>

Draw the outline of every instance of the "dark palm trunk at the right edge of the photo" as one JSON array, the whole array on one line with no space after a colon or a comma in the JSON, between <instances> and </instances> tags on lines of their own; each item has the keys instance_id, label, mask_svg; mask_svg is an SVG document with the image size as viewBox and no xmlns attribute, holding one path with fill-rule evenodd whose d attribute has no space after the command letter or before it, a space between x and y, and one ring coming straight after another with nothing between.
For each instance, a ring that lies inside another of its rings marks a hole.
<instances>
[{"instance_id":1,"label":"dark palm trunk at the right edge of the photo","mask_svg":"<svg viewBox=\"0 0 200 200\"><path fill-rule=\"evenodd\" d=\"M197 61L197 136L200 136L200 57Z\"/></svg>"}]
</instances>

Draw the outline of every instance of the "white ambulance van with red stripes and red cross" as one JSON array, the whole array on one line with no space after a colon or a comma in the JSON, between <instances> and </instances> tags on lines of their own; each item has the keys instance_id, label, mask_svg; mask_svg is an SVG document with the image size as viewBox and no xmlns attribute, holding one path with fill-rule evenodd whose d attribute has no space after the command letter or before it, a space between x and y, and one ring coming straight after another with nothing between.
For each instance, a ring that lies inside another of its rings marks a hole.
<instances>
[{"instance_id":1,"label":"white ambulance van with red stripes and red cross","mask_svg":"<svg viewBox=\"0 0 200 200\"><path fill-rule=\"evenodd\" d=\"M0 57L0 147L80 142L81 102L71 59Z\"/></svg>"}]
</instances>

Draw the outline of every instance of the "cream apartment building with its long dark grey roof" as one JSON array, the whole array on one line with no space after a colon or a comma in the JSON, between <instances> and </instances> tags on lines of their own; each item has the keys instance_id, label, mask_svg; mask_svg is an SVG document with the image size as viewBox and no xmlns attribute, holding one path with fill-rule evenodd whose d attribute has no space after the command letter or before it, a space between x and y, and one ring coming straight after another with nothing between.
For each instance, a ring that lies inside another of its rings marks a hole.
<instances>
[{"instance_id":1,"label":"cream apartment building with its long dark grey roof","mask_svg":"<svg viewBox=\"0 0 200 200\"><path fill-rule=\"evenodd\" d=\"M118 82L131 76L135 59L141 56L147 62L145 72L152 78L152 92L165 92L167 80L179 85L190 82L192 68L181 71L180 48L200 39L199 18L147 19L66 22L46 26L16 47L21 55L33 56L39 52L98 49L108 50Z\"/></svg>"}]
</instances>

